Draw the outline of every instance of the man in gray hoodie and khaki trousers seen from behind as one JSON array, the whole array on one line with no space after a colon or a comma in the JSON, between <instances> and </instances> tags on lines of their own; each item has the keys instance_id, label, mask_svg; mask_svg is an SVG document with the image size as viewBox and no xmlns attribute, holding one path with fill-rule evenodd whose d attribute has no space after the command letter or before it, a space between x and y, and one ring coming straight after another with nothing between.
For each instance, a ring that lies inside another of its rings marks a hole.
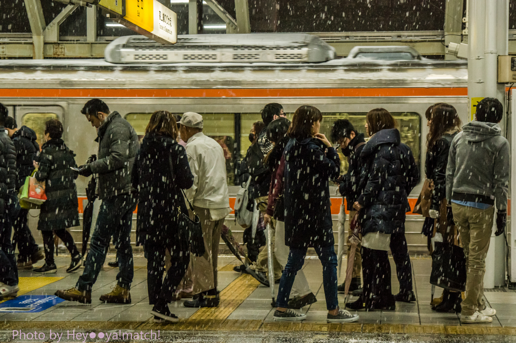
<instances>
[{"instance_id":1,"label":"man in gray hoodie and khaki trousers seen from behind","mask_svg":"<svg viewBox=\"0 0 516 343\"><path fill-rule=\"evenodd\" d=\"M495 204L496 236L503 234L507 218L510 151L498 126L502 116L503 106L497 99L486 97L480 101L476 120L464 125L451 142L448 155L448 220L455 221L466 256L462 323L488 323L496 314L483 300L483 277Z\"/></svg>"}]
</instances>

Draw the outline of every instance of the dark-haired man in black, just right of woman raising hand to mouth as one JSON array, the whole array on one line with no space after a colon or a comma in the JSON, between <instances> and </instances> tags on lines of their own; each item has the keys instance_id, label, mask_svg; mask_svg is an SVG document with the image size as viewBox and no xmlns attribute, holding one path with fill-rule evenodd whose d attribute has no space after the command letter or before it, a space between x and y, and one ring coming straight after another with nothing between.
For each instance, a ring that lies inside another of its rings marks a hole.
<instances>
[{"instance_id":1,"label":"dark-haired man in black, just right of woman raising hand to mouth","mask_svg":"<svg viewBox=\"0 0 516 343\"><path fill-rule=\"evenodd\" d=\"M341 146L341 151L348 159L348 171L341 176L342 183L338 187L341 195L346 198L346 209L349 211L349 220L347 223L348 230L348 247L351 247L349 238L353 236L353 231L350 229L351 218L357 213L353 208L353 204L357 201L360 194L357 193L358 179L360 177L360 170L362 168L362 158L360 153L364 149L365 139L364 134L359 134L353 127L353 124L347 119L339 119L333 123L331 128L331 140ZM360 255L360 244L357 246L353 263L353 275L349 291L362 290L360 273L362 271L362 256ZM347 252L349 258L349 249ZM339 293L344 293L345 284L337 287Z\"/></svg>"}]
</instances>

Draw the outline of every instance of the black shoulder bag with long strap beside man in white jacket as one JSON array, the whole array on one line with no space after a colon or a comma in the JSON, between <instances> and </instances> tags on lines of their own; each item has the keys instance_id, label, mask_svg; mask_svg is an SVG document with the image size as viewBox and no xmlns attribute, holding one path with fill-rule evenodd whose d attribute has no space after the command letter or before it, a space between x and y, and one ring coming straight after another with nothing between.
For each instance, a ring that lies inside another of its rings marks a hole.
<instances>
[{"instance_id":1,"label":"black shoulder bag with long strap beside man in white jacket","mask_svg":"<svg viewBox=\"0 0 516 343\"><path fill-rule=\"evenodd\" d=\"M170 172L172 173L172 186L174 187L174 189L177 189L175 187L174 182L175 174L171 155L169 155L169 162ZM190 253L192 253L195 256L202 256L206 252L206 249L204 248L204 237L202 234L201 220L199 219L199 216L195 213L195 210L193 210L193 206L186 197L184 190L181 190L181 192L183 193L183 197L186 199L188 205L190 206L190 210L193 214L193 219L190 219L190 216L187 213L182 213L181 206L179 205L179 197L174 197L175 213L173 218L175 218L175 224L178 227L179 237L181 240L188 242Z\"/></svg>"}]
</instances>

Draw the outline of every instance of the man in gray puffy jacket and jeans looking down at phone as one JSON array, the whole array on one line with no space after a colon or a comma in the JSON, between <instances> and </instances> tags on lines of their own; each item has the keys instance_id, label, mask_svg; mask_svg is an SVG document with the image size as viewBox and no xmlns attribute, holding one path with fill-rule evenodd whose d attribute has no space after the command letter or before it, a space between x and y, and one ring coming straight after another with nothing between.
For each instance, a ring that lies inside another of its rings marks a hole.
<instances>
[{"instance_id":1,"label":"man in gray puffy jacket and jeans looking down at phone","mask_svg":"<svg viewBox=\"0 0 516 343\"><path fill-rule=\"evenodd\" d=\"M69 301L91 303L91 287L99 275L106 258L111 236L118 234L116 242L120 272L117 286L100 297L109 303L131 303L129 289L133 282L133 250L131 248L131 227L136 197L133 197L131 171L138 153L138 136L134 128L118 112L110 112L99 99L92 99L84 105L81 113L93 127L98 129L98 159L79 167L79 174L98 174L97 193L102 200L95 231L91 236L90 251L85 262L83 275L74 288L58 290L56 296Z\"/></svg>"}]
</instances>

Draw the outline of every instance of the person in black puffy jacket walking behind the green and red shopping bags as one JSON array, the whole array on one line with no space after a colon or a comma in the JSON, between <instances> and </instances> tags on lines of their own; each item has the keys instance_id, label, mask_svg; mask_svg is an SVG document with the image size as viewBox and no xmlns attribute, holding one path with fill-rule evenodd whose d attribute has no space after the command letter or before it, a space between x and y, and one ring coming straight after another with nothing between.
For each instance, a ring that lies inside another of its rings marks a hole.
<instances>
[{"instance_id":1,"label":"person in black puffy jacket walking behind the green and red shopping bags","mask_svg":"<svg viewBox=\"0 0 516 343\"><path fill-rule=\"evenodd\" d=\"M18 171L16 191L19 192L25 183L25 178L34 171L33 161L38 159L39 144L34 130L25 125L18 128L16 120L12 117L7 117L5 128L16 149ZM31 269L33 264L45 257L27 225L28 213L28 209L21 208L12 225L14 231L12 243L14 247L18 245L19 251L18 269Z\"/></svg>"}]
</instances>

